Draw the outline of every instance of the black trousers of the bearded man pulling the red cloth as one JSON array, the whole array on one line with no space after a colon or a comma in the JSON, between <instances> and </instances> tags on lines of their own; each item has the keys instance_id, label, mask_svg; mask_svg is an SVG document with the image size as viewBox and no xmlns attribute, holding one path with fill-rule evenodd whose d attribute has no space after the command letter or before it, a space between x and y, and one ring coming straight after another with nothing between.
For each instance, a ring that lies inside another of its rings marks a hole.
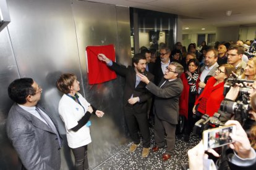
<instances>
[{"instance_id":1,"label":"black trousers of the bearded man pulling the red cloth","mask_svg":"<svg viewBox=\"0 0 256 170\"><path fill-rule=\"evenodd\" d=\"M147 111L145 113L136 113L132 105L124 106L124 117L134 144L140 143L140 136L138 132L142 134L143 147L150 147L150 131L148 126Z\"/></svg>"}]
</instances>

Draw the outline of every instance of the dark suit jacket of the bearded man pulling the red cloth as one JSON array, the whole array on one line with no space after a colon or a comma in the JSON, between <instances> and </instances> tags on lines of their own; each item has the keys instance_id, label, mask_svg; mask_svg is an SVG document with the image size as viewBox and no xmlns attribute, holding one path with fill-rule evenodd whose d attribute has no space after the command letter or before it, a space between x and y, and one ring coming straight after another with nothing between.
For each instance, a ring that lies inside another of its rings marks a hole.
<instances>
[{"instance_id":1,"label":"dark suit jacket of the bearded man pulling the red cloth","mask_svg":"<svg viewBox=\"0 0 256 170\"><path fill-rule=\"evenodd\" d=\"M151 98L151 93L145 88L146 84L142 81L140 81L138 86L135 88L136 72L134 70L134 67L129 66L128 68L126 68L113 62L113 65L109 68L116 71L117 74L126 78L126 85L124 87L124 106L129 104L128 99L130 99L132 94L134 94L134 97L140 98L140 102L134 104L134 110L136 111L136 113L146 113L147 100ZM144 75L147 76L150 81L154 80L154 76L148 71L145 71Z\"/></svg>"}]
</instances>

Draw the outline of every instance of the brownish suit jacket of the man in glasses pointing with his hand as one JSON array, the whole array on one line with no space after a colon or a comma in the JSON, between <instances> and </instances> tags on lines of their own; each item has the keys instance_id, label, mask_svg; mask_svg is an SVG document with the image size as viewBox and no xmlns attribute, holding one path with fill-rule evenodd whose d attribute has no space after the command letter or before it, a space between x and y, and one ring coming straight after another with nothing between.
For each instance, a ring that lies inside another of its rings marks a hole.
<instances>
[{"instance_id":1,"label":"brownish suit jacket of the man in glasses pointing with his hand","mask_svg":"<svg viewBox=\"0 0 256 170\"><path fill-rule=\"evenodd\" d=\"M173 81L161 79L158 86L152 82L147 84L147 89L155 95L153 111L159 119L171 124L177 124L179 115L179 96L183 90L180 78ZM163 84L164 83L164 84ZM161 84L163 86L160 88Z\"/></svg>"}]
</instances>

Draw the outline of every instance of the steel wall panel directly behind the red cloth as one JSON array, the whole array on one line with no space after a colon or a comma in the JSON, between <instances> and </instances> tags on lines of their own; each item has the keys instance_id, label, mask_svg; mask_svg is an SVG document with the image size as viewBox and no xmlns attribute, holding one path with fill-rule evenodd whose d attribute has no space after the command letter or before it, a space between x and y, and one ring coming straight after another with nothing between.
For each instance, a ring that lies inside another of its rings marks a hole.
<instances>
[{"instance_id":1,"label":"steel wall panel directly behind the red cloth","mask_svg":"<svg viewBox=\"0 0 256 170\"><path fill-rule=\"evenodd\" d=\"M120 34L117 31L116 6L87 1L74 1L72 10L77 33L85 97L98 110L105 111L103 118L96 118L95 116L91 118L93 124L91 127L92 145L88 147L88 160L90 168L93 168L124 147L128 140L124 134L125 126L122 111L122 82L124 80L118 77L113 81L90 86L87 79L87 66L85 65L85 47L114 44L117 61L127 59L128 51L130 51L130 39L127 41L126 38L130 34L127 32L127 30L130 30L129 10L126 10L128 11L126 13L127 16L123 14L126 24L121 26ZM121 42L124 49L122 56L118 55L120 49L119 36L124 37L124 40ZM127 47L124 48L124 46Z\"/></svg>"}]
</instances>

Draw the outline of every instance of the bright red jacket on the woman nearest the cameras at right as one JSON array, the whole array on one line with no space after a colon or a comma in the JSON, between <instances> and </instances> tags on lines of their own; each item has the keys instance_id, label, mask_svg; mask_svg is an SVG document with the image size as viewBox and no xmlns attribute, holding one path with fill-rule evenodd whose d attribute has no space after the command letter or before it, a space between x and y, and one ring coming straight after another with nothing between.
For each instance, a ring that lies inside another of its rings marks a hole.
<instances>
[{"instance_id":1,"label":"bright red jacket on the woman nearest the cameras at right","mask_svg":"<svg viewBox=\"0 0 256 170\"><path fill-rule=\"evenodd\" d=\"M216 79L214 77L208 79L205 89L195 101L195 105L199 104L197 110L209 116L213 116L218 111L224 99L224 82L213 87L215 83Z\"/></svg>"}]
</instances>

